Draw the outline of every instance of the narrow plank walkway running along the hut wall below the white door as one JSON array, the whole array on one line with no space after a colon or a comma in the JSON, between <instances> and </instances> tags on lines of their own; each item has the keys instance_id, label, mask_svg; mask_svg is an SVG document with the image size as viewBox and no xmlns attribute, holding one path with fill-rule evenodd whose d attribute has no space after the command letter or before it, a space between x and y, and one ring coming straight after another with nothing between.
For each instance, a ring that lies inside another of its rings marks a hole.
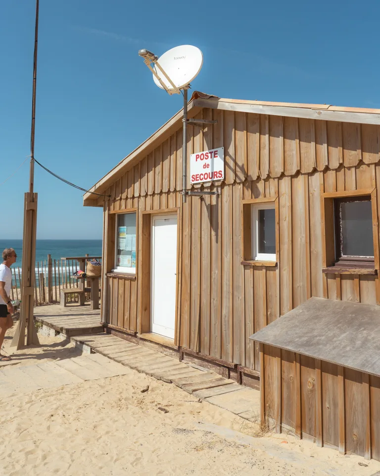
<instances>
[{"instance_id":1,"label":"narrow plank walkway running along the hut wall below the white door","mask_svg":"<svg viewBox=\"0 0 380 476\"><path fill-rule=\"evenodd\" d=\"M71 339L90 350L158 380L174 383L201 400L229 410L249 421L259 421L260 392L238 385L214 372L191 367L160 352L132 344L110 334L76 336Z\"/></svg>"}]
</instances>

